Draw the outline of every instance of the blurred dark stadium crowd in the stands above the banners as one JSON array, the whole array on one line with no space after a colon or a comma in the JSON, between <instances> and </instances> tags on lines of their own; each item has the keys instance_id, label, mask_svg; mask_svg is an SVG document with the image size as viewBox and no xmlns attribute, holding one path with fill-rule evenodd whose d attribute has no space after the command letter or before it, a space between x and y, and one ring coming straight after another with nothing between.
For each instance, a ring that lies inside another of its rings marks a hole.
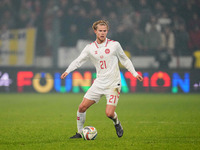
<instances>
[{"instance_id":1,"label":"blurred dark stadium crowd in the stands above the banners","mask_svg":"<svg viewBox=\"0 0 200 150\"><path fill-rule=\"evenodd\" d=\"M94 40L106 19L108 37L133 55L191 55L200 49L199 0L1 0L0 30L37 28L37 55L51 55L55 18L61 46Z\"/></svg>"}]
</instances>

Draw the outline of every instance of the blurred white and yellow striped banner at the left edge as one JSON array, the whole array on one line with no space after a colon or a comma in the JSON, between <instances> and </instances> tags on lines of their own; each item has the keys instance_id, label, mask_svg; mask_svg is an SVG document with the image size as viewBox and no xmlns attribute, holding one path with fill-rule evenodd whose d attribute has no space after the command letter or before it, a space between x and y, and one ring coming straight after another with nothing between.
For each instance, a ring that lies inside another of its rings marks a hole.
<instances>
[{"instance_id":1,"label":"blurred white and yellow striped banner at the left edge","mask_svg":"<svg viewBox=\"0 0 200 150\"><path fill-rule=\"evenodd\" d=\"M0 66L32 66L36 29L0 31Z\"/></svg>"}]
</instances>

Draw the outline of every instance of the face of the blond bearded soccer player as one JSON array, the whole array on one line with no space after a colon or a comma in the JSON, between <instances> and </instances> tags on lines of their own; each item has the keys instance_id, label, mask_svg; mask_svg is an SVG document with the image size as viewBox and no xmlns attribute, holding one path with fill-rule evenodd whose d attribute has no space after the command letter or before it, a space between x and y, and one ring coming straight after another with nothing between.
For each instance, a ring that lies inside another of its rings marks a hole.
<instances>
[{"instance_id":1,"label":"face of the blond bearded soccer player","mask_svg":"<svg viewBox=\"0 0 200 150\"><path fill-rule=\"evenodd\" d=\"M97 42L101 44L106 40L106 36L108 34L108 28L105 25L97 25L97 30L95 30L94 32L97 37Z\"/></svg>"}]
</instances>

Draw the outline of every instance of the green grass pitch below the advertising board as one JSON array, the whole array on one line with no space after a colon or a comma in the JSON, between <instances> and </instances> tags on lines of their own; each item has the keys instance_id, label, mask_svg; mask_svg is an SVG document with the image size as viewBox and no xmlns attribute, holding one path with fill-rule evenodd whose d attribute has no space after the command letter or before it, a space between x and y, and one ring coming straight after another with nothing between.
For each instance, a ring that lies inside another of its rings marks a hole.
<instances>
[{"instance_id":1,"label":"green grass pitch below the advertising board","mask_svg":"<svg viewBox=\"0 0 200 150\"><path fill-rule=\"evenodd\" d=\"M97 139L69 139L83 94L0 94L0 150L197 150L200 95L122 94L116 112L124 128L118 138L105 115L105 97L87 111L85 125Z\"/></svg>"}]
</instances>

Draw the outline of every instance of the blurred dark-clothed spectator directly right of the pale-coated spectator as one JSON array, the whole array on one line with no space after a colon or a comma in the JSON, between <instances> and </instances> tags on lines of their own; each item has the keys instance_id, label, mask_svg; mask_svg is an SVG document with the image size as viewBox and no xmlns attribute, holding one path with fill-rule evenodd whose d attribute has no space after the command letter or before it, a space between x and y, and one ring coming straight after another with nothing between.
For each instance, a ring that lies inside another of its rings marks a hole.
<instances>
[{"instance_id":1,"label":"blurred dark-clothed spectator directly right of the pale-coated spectator","mask_svg":"<svg viewBox=\"0 0 200 150\"><path fill-rule=\"evenodd\" d=\"M177 30L175 30L175 54L176 55L189 55L189 34L186 31L185 25L180 24Z\"/></svg>"}]
</instances>

